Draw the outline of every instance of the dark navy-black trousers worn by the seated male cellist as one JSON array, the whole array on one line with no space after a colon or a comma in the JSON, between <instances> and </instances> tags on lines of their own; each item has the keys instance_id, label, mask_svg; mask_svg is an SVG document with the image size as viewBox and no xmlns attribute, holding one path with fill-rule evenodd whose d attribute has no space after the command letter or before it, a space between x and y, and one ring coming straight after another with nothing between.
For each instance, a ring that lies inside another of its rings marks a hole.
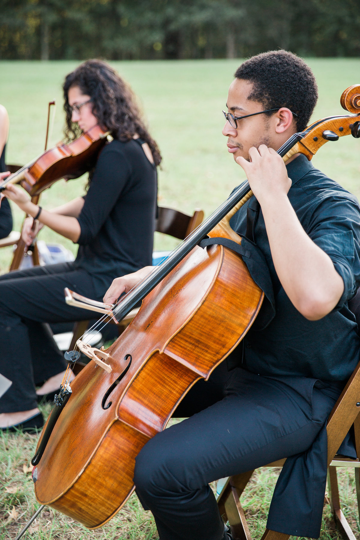
<instances>
[{"instance_id":1,"label":"dark navy-black trousers worn by the seated male cellist","mask_svg":"<svg viewBox=\"0 0 360 540\"><path fill-rule=\"evenodd\" d=\"M227 373L226 362L209 383L196 384L174 416L199 410L199 399L208 406L206 384L222 399L155 435L136 459L136 492L152 511L160 540L221 540L209 482L309 449L339 395L305 377Z\"/></svg>"}]
</instances>

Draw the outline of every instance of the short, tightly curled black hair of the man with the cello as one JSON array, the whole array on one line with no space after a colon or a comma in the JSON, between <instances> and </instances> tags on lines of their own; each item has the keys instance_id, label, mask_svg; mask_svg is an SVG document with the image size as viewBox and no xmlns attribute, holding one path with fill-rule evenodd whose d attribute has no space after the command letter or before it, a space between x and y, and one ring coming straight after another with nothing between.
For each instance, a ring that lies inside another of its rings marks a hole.
<instances>
[{"instance_id":1,"label":"short, tightly curled black hair of the man with the cello","mask_svg":"<svg viewBox=\"0 0 360 540\"><path fill-rule=\"evenodd\" d=\"M317 102L317 84L302 58L284 50L262 52L245 60L234 77L253 84L248 99L261 103L264 109L288 107L297 114L298 131L308 125Z\"/></svg>"}]
</instances>

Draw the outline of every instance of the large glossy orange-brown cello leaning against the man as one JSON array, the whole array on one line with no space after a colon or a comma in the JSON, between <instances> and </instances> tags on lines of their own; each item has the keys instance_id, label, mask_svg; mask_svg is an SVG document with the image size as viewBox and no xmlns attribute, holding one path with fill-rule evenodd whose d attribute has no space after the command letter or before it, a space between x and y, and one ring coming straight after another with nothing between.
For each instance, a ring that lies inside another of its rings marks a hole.
<instances>
[{"instance_id":1,"label":"large glossy orange-brown cello leaning against the man","mask_svg":"<svg viewBox=\"0 0 360 540\"><path fill-rule=\"evenodd\" d=\"M360 85L345 90L341 104L351 114L323 118L294 134L278 150L283 160L296 153L311 159L327 141L348 134L359 138ZM40 503L90 529L104 525L134 490L141 448L248 332L264 293L243 262L241 238L229 220L251 196L246 181L116 306L76 296L83 307L90 303L104 313L99 324L108 316L122 319L141 299L142 305L106 350L78 341L93 361L71 387L65 375L40 436L32 459ZM205 237L215 245L199 247ZM65 357L72 363L79 352Z\"/></svg>"}]
</instances>

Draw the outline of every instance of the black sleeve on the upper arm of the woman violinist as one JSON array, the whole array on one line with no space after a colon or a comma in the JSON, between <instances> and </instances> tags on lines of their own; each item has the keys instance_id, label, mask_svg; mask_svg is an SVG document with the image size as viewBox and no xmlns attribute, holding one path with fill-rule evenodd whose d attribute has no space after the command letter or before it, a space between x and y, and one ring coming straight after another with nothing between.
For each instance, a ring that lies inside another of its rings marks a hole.
<instances>
[{"instance_id":1,"label":"black sleeve on the upper arm of the woman violinist","mask_svg":"<svg viewBox=\"0 0 360 540\"><path fill-rule=\"evenodd\" d=\"M83 209L77 218L81 230L77 244L90 244L96 237L130 175L131 166L124 153L112 149L111 144L105 146L97 161Z\"/></svg>"}]
</instances>

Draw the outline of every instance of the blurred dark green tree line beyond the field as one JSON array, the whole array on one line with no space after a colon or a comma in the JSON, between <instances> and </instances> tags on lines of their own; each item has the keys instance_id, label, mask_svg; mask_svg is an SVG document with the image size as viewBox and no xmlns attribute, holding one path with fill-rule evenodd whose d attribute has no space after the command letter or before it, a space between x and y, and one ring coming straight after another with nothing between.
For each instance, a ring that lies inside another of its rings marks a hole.
<instances>
[{"instance_id":1,"label":"blurred dark green tree line beyond the field","mask_svg":"<svg viewBox=\"0 0 360 540\"><path fill-rule=\"evenodd\" d=\"M359 56L360 0L1 0L0 59Z\"/></svg>"}]
</instances>

